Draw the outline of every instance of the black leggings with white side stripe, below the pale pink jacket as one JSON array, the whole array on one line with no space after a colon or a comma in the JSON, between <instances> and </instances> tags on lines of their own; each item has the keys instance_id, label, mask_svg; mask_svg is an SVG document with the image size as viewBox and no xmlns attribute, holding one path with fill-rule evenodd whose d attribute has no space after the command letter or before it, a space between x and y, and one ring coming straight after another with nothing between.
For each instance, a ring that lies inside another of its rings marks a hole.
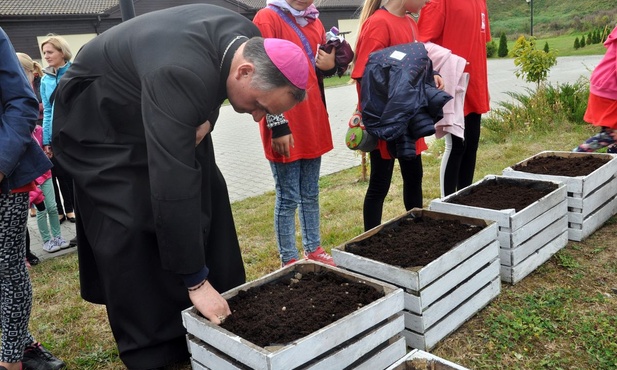
<instances>
[{"instance_id":1,"label":"black leggings with white side stripe, below the pale pink jacket","mask_svg":"<svg viewBox=\"0 0 617 370\"><path fill-rule=\"evenodd\" d=\"M480 122L482 115L469 113L465 116L465 140L450 135L452 150L444 154L442 166L442 196L450 195L457 190L472 184L476 170L476 153L480 142Z\"/></svg>"}]
</instances>

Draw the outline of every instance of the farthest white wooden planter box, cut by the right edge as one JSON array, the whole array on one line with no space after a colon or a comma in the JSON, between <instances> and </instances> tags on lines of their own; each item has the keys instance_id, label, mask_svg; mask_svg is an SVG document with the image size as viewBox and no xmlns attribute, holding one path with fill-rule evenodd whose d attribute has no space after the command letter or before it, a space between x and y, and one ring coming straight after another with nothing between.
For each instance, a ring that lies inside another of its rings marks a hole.
<instances>
[{"instance_id":1,"label":"farthest white wooden planter box, cut by the right edge","mask_svg":"<svg viewBox=\"0 0 617 370\"><path fill-rule=\"evenodd\" d=\"M617 213L617 156L603 153L540 152L516 164L525 166L529 161L557 156L576 158L595 156L607 163L587 176L555 176L516 171L514 166L503 170L508 177L561 181L568 192L568 239L581 241L591 235Z\"/></svg>"}]
</instances>

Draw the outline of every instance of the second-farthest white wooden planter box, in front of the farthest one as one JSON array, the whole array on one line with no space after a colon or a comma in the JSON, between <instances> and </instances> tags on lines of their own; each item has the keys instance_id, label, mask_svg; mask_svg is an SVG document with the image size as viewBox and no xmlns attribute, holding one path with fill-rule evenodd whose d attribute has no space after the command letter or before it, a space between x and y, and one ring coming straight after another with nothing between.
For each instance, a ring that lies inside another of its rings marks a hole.
<instances>
[{"instance_id":1,"label":"second-farthest white wooden planter box, in front of the farthest one","mask_svg":"<svg viewBox=\"0 0 617 370\"><path fill-rule=\"evenodd\" d=\"M488 181L516 181L537 186L550 182L558 187L518 212L449 202L453 197L467 194ZM499 228L501 280L511 284L529 275L568 243L566 185L561 182L490 175L445 198L431 201L429 209L495 221Z\"/></svg>"}]
</instances>

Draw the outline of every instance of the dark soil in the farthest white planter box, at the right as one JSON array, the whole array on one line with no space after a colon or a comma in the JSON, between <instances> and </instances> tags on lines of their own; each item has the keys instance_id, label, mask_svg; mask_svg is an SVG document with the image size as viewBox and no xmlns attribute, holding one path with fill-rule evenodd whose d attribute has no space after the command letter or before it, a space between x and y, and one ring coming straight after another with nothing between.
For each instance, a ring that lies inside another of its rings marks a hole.
<instances>
[{"instance_id":1,"label":"dark soil in the farthest white planter box, at the right","mask_svg":"<svg viewBox=\"0 0 617 370\"><path fill-rule=\"evenodd\" d=\"M546 156L532 158L524 164L513 166L512 169L539 175L587 176L605 165L609 160L610 158L592 155L582 157Z\"/></svg>"}]
</instances>

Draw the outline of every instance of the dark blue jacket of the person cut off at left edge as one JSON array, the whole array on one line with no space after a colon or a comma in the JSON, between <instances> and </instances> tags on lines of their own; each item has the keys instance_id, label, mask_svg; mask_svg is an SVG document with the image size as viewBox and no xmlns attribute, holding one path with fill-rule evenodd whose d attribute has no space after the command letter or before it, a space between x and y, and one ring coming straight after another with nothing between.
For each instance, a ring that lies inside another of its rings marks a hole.
<instances>
[{"instance_id":1,"label":"dark blue jacket of the person cut off at left edge","mask_svg":"<svg viewBox=\"0 0 617 370\"><path fill-rule=\"evenodd\" d=\"M0 60L0 192L7 194L45 173L51 162L32 138L39 103L2 28Z\"/></svg>"}]
</instances>

